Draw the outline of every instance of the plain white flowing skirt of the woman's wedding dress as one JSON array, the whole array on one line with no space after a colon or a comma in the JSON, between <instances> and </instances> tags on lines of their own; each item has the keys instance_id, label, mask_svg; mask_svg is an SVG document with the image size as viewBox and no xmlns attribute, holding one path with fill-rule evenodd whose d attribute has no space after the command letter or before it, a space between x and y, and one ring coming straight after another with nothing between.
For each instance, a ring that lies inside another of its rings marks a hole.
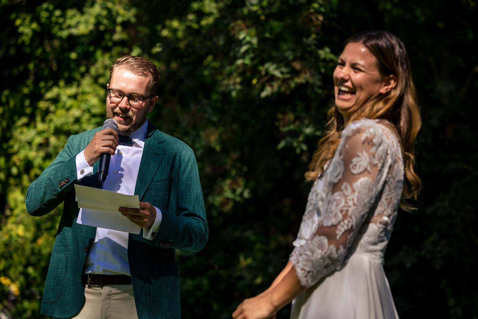
<instances>
[{"instance_id":1,"label":"plain white flowing skirt of the woman's wedding dress","mask_svg":"<svg viewBox=\"0 0 478 319\"><path fill-rule=\"evenodd\" d=\"M354 253L292 302L291 319L398 319L383 267Z\"/></svg>"}]
</instances>

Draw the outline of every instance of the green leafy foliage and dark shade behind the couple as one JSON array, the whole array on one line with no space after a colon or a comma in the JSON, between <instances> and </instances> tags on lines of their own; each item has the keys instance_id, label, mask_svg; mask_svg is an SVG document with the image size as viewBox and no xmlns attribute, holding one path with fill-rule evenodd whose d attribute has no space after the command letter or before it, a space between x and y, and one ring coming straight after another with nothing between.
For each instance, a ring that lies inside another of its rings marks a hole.
<instances>
[{"instance_id":1,"label":"green leafy foliage and dark shade behind the couple","mask_svg":"<svg viewBox=\"0 0 478 319\"><path fill-rule=\"evenodd\" d=\"M478 318L476 0L0 0L0 308L39 314L62 207L28 185L69 135L104 121L109 65L141 55L162 85L150 120L195 151L210 238L178 252L183 318L230 318L292 251L343 41L384 29L411 58L424 189L385 256L402 318ZM278 318L288 318L289 307Z\"/></svg>"}]
</instances>

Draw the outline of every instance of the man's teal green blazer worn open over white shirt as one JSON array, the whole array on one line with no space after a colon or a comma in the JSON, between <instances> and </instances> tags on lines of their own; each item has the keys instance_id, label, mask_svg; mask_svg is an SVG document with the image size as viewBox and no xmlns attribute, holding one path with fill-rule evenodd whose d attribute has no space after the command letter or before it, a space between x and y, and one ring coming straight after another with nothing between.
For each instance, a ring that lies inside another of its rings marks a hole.
<instances>
[{"instance_id":1,"label":"man's teal green blazer worn open over white shirt","mask_svg":"<svg viewBox=\"0 0 478 319\"><path fill-rule=\"evenodd\" d=\"M71 317L85 299L81 274L96 227L76 223L79 209L74 185L101 188L101 184L96 174L98 162L93 165L94 174L76 179L76 154L99 130L72 135L54 162L28 187L25 204L33 216L45 215L65 202L46 277L43 315ZM152 241L143 238L142 230L139 235L129 235L128 262L138 317L179 319L179 265L174 250L201 250L207 242L208 226L193 151L151 123L135 195L161 209L163 215Z\"/></svg>"}]
</instances>

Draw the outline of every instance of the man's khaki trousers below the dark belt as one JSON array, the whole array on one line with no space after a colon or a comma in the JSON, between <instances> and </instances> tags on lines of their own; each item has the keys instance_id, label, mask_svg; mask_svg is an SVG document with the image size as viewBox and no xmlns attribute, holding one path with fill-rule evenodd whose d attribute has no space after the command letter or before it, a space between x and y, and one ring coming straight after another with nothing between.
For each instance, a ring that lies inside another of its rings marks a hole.
<instances>
[{"instance_id":1,"label":"man's khaki trousers below the dark belt","mask_svg":"<svg viewBox=\"0 0 478 319\"><path fill-rule=\"evenodd\" d=\"M137 319L131 285L85 286L85 302L75 319Z\"/></svg>"}]
</instances>

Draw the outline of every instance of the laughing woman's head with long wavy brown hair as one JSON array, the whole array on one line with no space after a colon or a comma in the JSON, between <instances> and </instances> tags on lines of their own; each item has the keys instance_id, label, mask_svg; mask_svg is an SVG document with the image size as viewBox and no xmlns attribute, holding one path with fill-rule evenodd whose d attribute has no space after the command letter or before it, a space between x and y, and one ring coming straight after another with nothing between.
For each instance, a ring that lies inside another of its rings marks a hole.
<instances>
[{"instance_id":1,"label":"laughing woman's head with long wavy brown hair","mask_svg":"<svg viewBox=\"0 0 478 319\"><path fill-rule=\"evenodd\" d=\"M305 178L315 180L323 171L336 153L348 123L359 119L386 120L382 122L393 127L402 146L406 178L400 206L413 209L407 199L416 198L421 187L413 170L413 152L422 121L412 69L402 41L384 31L350 37L334 71L334 90L335 105L328 111L330 127L319 141Z\"/></svg>"}]
</instances>

